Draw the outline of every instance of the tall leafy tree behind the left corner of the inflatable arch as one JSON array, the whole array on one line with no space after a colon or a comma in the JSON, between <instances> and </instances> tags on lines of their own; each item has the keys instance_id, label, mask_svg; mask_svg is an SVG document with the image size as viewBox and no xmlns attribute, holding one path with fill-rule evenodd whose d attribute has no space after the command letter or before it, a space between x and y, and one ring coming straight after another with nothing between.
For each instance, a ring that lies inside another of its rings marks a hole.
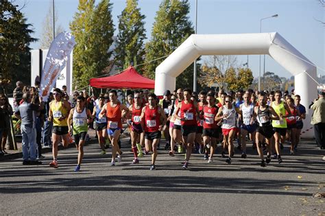
<instances>
[{"instance_id":1,"label":"tall leafy tree behind the left corner of the inflatable arch","mask_svg":"<svg viewBox=\"0 0 325 216\"><path fill-rule=\"evenodd\" d=\"M154 78L156 67L163 62L186 38L194 33L189 21L188 0L164 0L160 3L152 27L151 40L145 45L146 62L144 74ZM160 58L160 59L159 59ZM177 88L192 86L193 64L176 79Z\"/></svg>"}]
</instances>

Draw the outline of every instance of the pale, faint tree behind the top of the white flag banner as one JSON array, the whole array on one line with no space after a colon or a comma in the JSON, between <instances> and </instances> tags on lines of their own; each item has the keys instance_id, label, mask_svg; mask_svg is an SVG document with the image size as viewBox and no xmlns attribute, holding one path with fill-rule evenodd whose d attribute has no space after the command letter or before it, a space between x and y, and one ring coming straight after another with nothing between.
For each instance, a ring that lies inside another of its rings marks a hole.
<instances>
[{"instance_id":1,"label":"pale, faint tree behind the top of the white flag banner","mask_svg":"<svg viewBox=\"0 0 325 216\"><path fill-rule=\"evenodd\" d=\"M64 31L61 25L58 25L58 10L55 9L54 21L56 22L56 36ZM40 49L49 49L53 41L53 7L49 6L49 11L43 21L42 36L40 37Z\"/></svg>"}]
</instances>

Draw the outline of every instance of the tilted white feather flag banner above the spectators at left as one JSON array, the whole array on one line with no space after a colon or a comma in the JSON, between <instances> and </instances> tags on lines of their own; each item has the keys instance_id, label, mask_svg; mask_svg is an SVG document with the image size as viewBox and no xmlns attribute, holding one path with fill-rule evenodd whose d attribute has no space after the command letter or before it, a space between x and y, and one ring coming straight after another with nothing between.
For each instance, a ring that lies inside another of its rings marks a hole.
<instances>
[{"instance_id":1,"label":"tilted white feather flag banner above the spectators at left","mask_svg":"<svg viewBox=\"0 0 325 216\"><path fill-rule=\"evenodd\" d=\"M75 38L69 32L61 32L54 38L43 67L40 93L43 101L47 101L49 93L58 80L60 72L67 64L70 53L75 46Z\"/></svg>"}]
</instances>

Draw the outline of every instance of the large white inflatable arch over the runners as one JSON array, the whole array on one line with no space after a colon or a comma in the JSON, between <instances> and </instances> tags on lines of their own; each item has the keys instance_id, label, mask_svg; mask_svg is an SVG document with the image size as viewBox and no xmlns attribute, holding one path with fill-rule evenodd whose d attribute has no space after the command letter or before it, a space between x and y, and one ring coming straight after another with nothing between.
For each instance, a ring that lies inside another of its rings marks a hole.
<instances>
[{"instance_id":1,"label":"large white inflatable arch over the runners","mask_svg":"<svg viewBox=\"0 0 325 216\"><path fill-rule=\"evenodd\" d=\"M303 42L302 42L303 43ZM200 56L269 55L295 76L295 91L306 107L302 137L313 137L308 106L317 97L316 67L277 32L257 34L192 34L156 68L155 93L176 88L176 77Z\"/></svg>"}]
</instances>

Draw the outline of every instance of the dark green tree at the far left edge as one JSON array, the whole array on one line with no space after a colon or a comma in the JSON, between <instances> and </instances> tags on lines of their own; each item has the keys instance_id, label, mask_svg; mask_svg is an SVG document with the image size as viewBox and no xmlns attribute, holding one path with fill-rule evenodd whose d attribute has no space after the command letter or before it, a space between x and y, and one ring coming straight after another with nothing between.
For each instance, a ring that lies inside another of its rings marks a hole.
<instances>
[{"instance_id":1,"label":"dark green tree at the far left edge","mask_svg":"<svg viewBox=\"0 0 325 216\"><path fill-rule=\"evenodd\" d=\"M21 80L24 84L30 82L30 48L29 44L36 41L34 33L26 23L26 19L18 6L10 1L0 4L0 75L12 80L9 91L15 87L15 82Z\"/></svg>"}]
</instances>

